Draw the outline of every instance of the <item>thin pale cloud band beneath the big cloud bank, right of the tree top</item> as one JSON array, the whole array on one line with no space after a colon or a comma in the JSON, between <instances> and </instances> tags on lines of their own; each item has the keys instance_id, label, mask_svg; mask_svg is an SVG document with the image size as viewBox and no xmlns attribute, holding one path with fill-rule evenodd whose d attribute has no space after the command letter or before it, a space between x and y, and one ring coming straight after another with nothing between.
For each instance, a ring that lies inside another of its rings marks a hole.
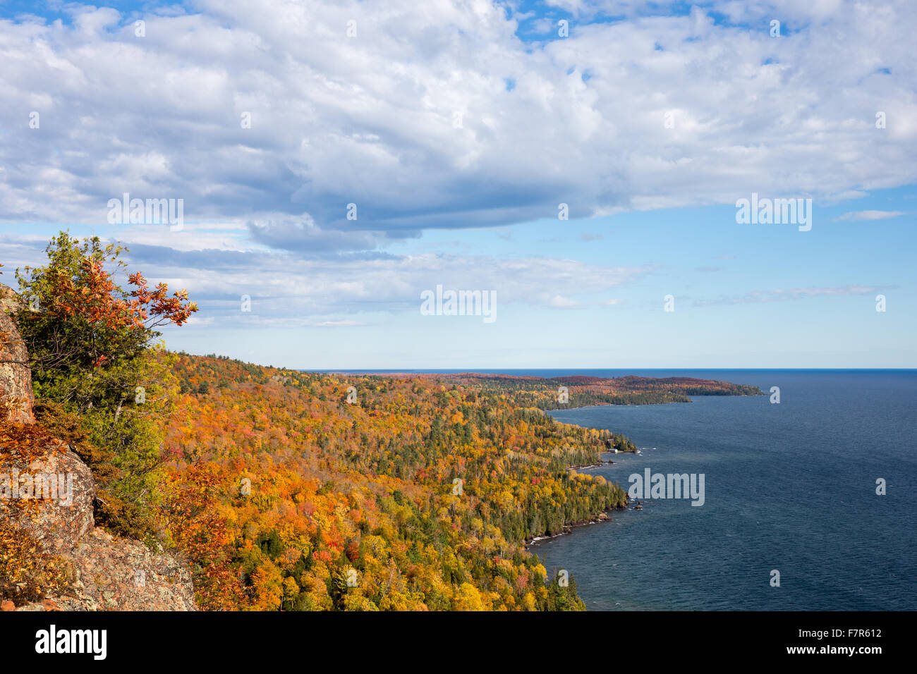
<instances>
[{"instance_id":1,"label":"thin pale cloud band beneath the big cloud bank, right of the tree top","mask_svg":"<svg viewBox=\"0 0 917 674\"><path fill-rule=\"evenodd\" d=\"M169 242L177 237L170 235ZM0 234L4 263L13 268L20 260L44 264L47 260L40 251L46 243L47 238ZM237 325L365 325L352 315L417 311L420 294L438 284L495 291L504 306L567 309L581 304L577 295L607 293L654 271L650 266L533 257L501 260L428 253L303 259L231 247L182 250L134 242L128 248L130 269L144 271L151 284L167 282L172 289L192 291L201 307L196 315L200 325L214 317L228 318ZM243 295L251 300L248 314L240 313Z\"/></svg>"}]
</instances>

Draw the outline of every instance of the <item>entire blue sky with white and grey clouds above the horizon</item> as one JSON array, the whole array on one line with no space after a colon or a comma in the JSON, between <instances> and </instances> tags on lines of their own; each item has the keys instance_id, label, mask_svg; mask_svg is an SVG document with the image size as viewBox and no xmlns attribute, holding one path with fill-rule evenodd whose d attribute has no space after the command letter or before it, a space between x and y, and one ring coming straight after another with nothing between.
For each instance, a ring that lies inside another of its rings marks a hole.
<instances>
[{"instance_id":1,"label":"entire blue sky with white and grey clouds above the horizon","mask_svg":"<svg viewBox=\"0 0 917 674\"><path fill-rule=\"evenodd\" d=\"M0 3L0 261L61 228L127 242L201 306L171 348L917 367L908 3L40 7ZM109 224L126 192L182 199L182 229ZM752 193L812 199L812 229L736 223ZM495 292L496 320L422 315L436 285Z\"/></svg>"}]
</instances>

